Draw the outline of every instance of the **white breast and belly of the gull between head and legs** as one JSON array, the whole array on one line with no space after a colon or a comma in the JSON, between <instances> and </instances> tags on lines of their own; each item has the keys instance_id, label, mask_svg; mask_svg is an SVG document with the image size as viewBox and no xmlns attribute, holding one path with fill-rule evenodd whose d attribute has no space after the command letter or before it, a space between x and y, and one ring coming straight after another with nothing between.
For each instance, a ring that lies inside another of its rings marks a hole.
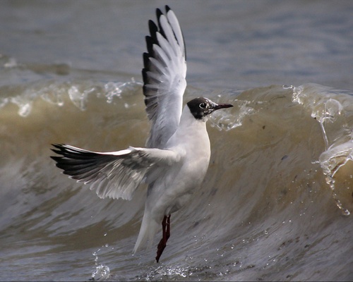
<instances>
[{"instance_id":1,"label":"white breast and belly of the gull between head and legs","mask_svg":"<svg viewBox=\"0 0 353 282\"><path fill-rule=\"evenodd\" d=\"M167 142L176 152L177 164L164 168L164 173L150 187L146 204L156 221L160 216L176 212L191 198L205 177L210 161L210 140L205 123L181 126Z\"/></svg>"}]
</instances>

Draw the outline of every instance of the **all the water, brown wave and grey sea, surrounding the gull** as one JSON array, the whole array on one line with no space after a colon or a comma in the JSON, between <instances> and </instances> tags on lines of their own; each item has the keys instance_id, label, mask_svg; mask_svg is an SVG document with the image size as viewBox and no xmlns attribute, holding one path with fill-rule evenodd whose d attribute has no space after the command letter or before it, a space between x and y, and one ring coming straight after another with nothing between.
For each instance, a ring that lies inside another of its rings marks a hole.
<instances>
[{"instance_id":1,"label":"all the water, brown wave and grey sea, surrounding the gull","mask_svg":"<svg viewBox=\"0 0 353 282\"><path fill-rule=\"evenodd\" d=\"M164 4L1 2L0 280L351 281L351 1L168 3L185 99L234 108L208 123L208 175L160 264L131 254L145 190L100 200L55 168L52 142L144 145L143 37Z\"/></svg>"}]
</instances>

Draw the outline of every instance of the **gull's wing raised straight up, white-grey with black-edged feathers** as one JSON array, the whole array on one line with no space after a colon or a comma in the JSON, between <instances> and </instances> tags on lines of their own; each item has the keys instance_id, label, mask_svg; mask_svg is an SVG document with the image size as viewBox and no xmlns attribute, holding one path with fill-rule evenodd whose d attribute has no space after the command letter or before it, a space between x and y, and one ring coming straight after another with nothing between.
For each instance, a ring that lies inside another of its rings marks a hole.
<instances>
[{"instance_id":1,"label":"gull's wing raised straight up, white-grey with black-edged feathers","mask_svg":"<svg viewBox=\"0 0 353 282\"><path fill-rule=\"evenodd\" d=\"M150 20L143 54L143 94L148 118L152 122L147 146L164 148L179 125L186 88L186 49L174 12L156 10L157 25Z\"/></svg>"}]
</instances>

